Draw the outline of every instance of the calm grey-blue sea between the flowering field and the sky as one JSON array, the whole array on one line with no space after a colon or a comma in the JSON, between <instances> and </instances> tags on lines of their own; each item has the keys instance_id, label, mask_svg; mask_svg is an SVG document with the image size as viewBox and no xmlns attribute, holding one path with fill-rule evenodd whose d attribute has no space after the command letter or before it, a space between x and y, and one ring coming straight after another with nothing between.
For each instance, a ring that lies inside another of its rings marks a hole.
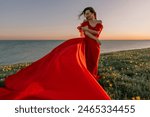
<instances>
[{"instance_id":1,"label":"calm grey-blue sea between the flowering field and the sky","mask_svg":"<svg viewBox=\"0 0 150 117\"><path fill-rule=\"evenodd\" d=\"M36 61L64 40L0 40L0 65ZM150 40L102 40L101 53L150 47Z\"/></svg>"}]
</instances>

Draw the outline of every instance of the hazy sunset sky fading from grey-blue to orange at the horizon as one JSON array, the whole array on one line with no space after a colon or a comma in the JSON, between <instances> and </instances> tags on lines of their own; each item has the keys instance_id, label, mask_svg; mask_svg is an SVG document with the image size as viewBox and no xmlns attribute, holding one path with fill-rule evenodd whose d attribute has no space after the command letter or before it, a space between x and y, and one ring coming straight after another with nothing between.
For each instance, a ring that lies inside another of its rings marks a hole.
<instances>
[{"instance_id":1,"label":"hazy sunset sky fading from grey-blue to orange at the horizon","mask_svg":"<svg viewBox=\"0 0 150 117\"><path fill-rule=\"evenodd\" d=\"M103 22L102 40L150 40L150 0L0 0L0 40L79 37L88 6Z\"/></svg>"}]
</instances>

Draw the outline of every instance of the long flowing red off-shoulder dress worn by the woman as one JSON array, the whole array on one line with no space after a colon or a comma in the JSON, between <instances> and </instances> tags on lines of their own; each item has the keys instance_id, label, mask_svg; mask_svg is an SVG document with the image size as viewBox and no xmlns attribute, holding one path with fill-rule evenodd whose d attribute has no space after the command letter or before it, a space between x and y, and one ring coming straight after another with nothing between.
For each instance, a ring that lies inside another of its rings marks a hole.
<instances>
[{"instance_id":1,"label":"long flowing red off-shoulder dress worn by the woman","mask_svg":"<svg viewBox=\"0 0 150 117\"><path fill-rule=\"evenodd\" d=\"M90 29L102 30L102 24ZM95 35L95 36L99 36ZM2 100L109 100L98 83L100 45L78 37L58 45L44 57L5 79Z\"/></svg>"}]
</instances>

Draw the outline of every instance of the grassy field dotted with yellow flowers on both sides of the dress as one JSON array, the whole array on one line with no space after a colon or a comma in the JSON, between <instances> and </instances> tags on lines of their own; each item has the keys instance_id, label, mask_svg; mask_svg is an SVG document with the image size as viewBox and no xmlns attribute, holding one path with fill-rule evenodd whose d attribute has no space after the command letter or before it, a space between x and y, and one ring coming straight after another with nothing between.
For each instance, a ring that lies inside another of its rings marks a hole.
<instances>
[{"instance_id":1,"label":"grassy field dotted with yellow flowers on both sides of the dress","mask_svg":"<svg viewBox=\"0 0 150 117\"><path fill-rule=\"evenodd\" d=\"M0 65L0 86L5 77L31 63ZM99 83L112 99L150 99L150 48L102 53L99 75Z\"/></svg>"}]
</instances>

